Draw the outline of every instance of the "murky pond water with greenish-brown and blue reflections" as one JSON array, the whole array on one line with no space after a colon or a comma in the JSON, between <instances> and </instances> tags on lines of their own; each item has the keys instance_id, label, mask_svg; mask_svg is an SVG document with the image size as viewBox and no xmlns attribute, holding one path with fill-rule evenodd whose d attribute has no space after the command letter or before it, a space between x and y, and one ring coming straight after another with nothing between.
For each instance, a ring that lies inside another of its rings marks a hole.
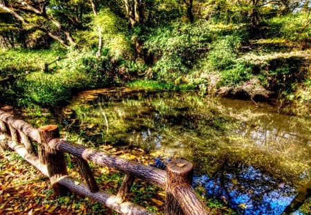
<instances>
[{"instance_id":1,"label":"murky pond water with greenish-brown and blue reflections","mask_svg":"<svg viewBox=\"0 0 311 215\"><path fill-rule=\"evenodd\" d=\"M80 93L61 118L92 144L153 153L157 167L190 160L200 194L241 214L281 214L311 178L310 118L265 103L113 88Z\"/></svg>"}]
</instances>

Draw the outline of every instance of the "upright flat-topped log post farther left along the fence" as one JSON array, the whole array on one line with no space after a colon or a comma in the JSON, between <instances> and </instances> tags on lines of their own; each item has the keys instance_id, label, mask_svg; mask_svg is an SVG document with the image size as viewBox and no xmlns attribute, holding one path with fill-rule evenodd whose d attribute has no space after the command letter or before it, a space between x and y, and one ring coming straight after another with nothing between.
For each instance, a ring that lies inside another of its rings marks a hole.
<instances>
[{"instance_id":1,"label":"upright flat-topped log post farther left along the fence","mask_svg":"<svg viewBox=\"0 0 311 215\"><path fill-rule=\"evenodd\" d=\"M41 150L39 151L39 160L43 165L48 168L48 176L50 178L50 183L53 187L56 196L64 196L67 194L68 189L59 183L57 180L66 176L66 162L64 153L62 151L57 151L48 146L48 142L54 138L59 138L59 130L57 125L47 125L40 127L38 129L41 141L39 146Z\"/></svg>"}]
</instances>

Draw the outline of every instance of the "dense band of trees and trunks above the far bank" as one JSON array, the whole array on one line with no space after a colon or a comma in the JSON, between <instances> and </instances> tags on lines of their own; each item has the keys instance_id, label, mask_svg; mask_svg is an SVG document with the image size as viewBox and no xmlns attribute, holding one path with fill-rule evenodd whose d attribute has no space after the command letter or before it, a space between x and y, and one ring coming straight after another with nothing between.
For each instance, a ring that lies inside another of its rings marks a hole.
<instances>
[{"instance_id":1,"label":"dense band of trees and trunks above the far bank","mask_svg":"<svg viewBox=\"0 0 311 215\"><path fill-rule=\"evenodd\" d=\"M114 0L114 1L1 1L1 46L48 46L55 40L75 46L80 30L89 28L97 12L110 8L129 27L154 27L187 17L212 19L258 28L266 19L310 10L309 0ZM92 16L93 14L93 16ZM98 28L97 31L102 32ZM259 31L258 31L259 32ZM98 35L100 36L100 35ZM261 35L262 36L262 35ZM98 53L97 53L98 55Z\"/></svg>"}]
</instances>

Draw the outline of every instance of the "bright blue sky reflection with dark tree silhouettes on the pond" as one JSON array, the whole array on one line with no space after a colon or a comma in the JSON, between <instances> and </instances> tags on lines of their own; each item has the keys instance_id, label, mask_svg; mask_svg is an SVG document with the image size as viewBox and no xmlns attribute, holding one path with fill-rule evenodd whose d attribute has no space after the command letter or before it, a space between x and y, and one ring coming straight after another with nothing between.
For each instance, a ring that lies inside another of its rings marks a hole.
<instances>
[{"instance_id":1,"label":"bright blue sky reflection with dark tree silhouettes on the pond","mask_svg":"<svg viewBox=\"0 0 311 215\"><path fill-rule=\"evenodd\" d=\"M252 166L223 162L214 176L198 176L195 186L207 197L218 197L241 214L281 214L294 197L294 189Z\"/></svg>"}]
</instances>

